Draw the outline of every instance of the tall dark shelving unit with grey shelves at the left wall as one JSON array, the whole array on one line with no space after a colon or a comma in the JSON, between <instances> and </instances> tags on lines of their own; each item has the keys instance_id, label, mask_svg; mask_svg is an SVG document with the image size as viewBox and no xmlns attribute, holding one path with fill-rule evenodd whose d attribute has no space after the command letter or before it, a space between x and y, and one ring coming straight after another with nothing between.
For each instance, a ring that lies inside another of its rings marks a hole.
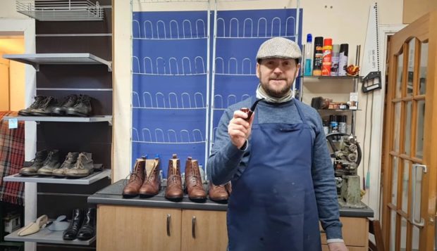
<instances>
[{"instance_id":1,"label":"tall dark shelving unit with grey shelves at the left wall","mask_svg":"<svg viewBox=\"0 0 437 251\"><path fill-rule=\"evenodd\" d=\"M66 156L70 152L92 153L94 163L101 163L96 165L103 165L106 169L79 179L16 174L5 177L4 181L25 182L25 186L32 188L26 191L26 221L33 221L42 214L47 214L50 218L67 215L70 219L73 209L91 206L87 204L87 196L111 184L113 0L16 2L19 13L44 22L35 22L36 53L7 54L3 57L35 67L36 84L26 83L26 87L35 89L36 95L61 100L66 96L85 92L90 96L94 116L20 116L6 117L5 120L36 122L36 130L31 130L30 137L25 140L30 141L30 145L35 144L37 151L56 149L60 156ZM90 35L84 37L80 34ZM30 159L30 154L33 153L27 153L27 160ZM60 157L59 162L63 162L63 157ZM35 250L70 251L82 247L95 250L93 243L96 237L85 241L70 241L63 240L62 235L63 231L41 229L29 236L17 236L13 232L5 240L36 243L30 245L36 247ZM72 247L75 245L82 247Z\"/></svg>"}]
</instances>

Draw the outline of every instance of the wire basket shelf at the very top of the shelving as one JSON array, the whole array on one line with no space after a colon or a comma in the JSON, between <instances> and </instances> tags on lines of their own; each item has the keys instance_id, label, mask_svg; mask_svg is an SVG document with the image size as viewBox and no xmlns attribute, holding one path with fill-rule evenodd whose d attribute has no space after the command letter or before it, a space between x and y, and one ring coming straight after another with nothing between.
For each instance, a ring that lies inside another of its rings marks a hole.
<instances>
[{"instance_id":1,"label":"wire basket shelf at the very top of the shelving","mask_svg":"<svg viewBox=\"0 0 437 251\"><path fill-rule=\"evenodd\" d=\"M39 21L101 21L104 12L99 2L17 0L17 12Z\"/></svg>"}]
</instances>

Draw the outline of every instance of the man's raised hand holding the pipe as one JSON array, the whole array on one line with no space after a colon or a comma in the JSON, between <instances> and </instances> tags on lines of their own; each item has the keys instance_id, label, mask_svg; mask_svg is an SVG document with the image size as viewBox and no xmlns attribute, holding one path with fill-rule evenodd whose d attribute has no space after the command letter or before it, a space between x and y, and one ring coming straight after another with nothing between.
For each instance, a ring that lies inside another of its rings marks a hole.
<instances>
[{"instance_id":1,"label":"man's raised hand holding the pipe","mask_svg":"<svg viewBox=\"0 0 437 251\"><path fill-rule=\"evenodd\" d=\"M245 112L240 110L234 112L234 117L228 124L228 134L230 141L238 149L240 149L245 144L246 139L249 138L254 117L254 114L252 114L250 120L246 121L247 114Z\"/></svg>"}]
</instances>

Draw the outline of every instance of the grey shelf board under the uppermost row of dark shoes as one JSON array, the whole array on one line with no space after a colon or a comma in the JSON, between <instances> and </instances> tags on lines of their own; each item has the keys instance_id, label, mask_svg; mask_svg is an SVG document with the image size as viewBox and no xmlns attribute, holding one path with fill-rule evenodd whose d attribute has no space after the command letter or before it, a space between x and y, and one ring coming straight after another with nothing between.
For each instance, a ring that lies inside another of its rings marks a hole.
<instances>
[{"instance_id":1,"label":"grey shelf board under the uppermost row of dark shoes","mask_svg":"<svg viewBox=\"0 0 437 251\"><path fill-rule=\"evenodd\" d=\"M94 117L42 117L42 116L5 116L3 120L17 119L18 121L35 122L108 122L112 126L112 116Z\"/></svg>"}]
</instances>

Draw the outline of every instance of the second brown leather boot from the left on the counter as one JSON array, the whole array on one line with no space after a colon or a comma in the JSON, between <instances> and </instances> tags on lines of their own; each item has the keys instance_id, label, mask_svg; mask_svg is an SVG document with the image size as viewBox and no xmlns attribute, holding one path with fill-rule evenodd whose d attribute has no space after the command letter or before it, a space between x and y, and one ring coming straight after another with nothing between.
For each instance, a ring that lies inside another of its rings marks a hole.
<instances>
[{"instance_id":1,"label":"second brown leather boot from the left on the counter","mask_svg":"<svg viewBox=\"0 0 437 251\"><path fill-rule=\"evenodd\" d=\"M140 197L150 197L157 195L161 190L161 179L159 177L159 170L161 165L159 158L154 160L146 160L146 178L140 188Z\"/></svg>"}]
</instances>

